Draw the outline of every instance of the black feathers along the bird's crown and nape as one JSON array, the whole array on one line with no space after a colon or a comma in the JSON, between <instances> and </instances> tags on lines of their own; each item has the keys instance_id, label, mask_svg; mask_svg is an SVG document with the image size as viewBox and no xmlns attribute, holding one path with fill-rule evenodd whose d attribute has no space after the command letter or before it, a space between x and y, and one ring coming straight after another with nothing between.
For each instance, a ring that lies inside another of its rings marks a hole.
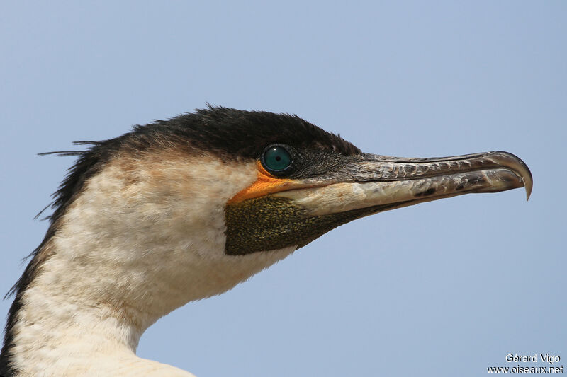
<instances>
[{"instance_id":1,"label":"black feathers along the bird's crown and nape","mask_svg":"<svg viewBox=\"0 0 567 377\"><path fill-rule=\"evenodd\" d=\"M82 195L86 183L101 173L108 163L119 155L127 155L136 160L148 151L156 150L176 150L189 156L213 153L227 163L252 161L272 143L290 144L313 151L328 151L342 156L361 153L356 146L305 122L296 115L249 112L222 107L209 107L170 120L157 120L145 126L137 125L132 132L115 139L77 141L76 145L89 146L84 151L40 153L77 156L77 161L69 168L62 184L52 195L52 203L45 207L45 209L48 207L53 209L52 214L47 216L50 226L45 238L29 255L30 262L21 278L6 294L6 296L15 294L16 297L6 322L4 347L0 354L0 372L6 375L13 374L9 361L14 346L17 314L23 307L24 293L38 276L41 266L52 256L52 253L47 252L47 245L60 231L64 214L77 197Z\"/></svg>"}]
</instances>

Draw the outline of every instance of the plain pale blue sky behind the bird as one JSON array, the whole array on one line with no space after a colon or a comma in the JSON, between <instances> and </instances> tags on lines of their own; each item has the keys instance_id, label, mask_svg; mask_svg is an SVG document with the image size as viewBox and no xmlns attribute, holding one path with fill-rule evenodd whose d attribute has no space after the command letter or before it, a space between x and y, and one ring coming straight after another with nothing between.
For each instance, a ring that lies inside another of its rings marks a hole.
<instances>
[{"instance_id":1,"label":"plain pale blue sky behind the bird","mask_svg":"<svg viewBox=\"0 0 567 377\"><path fill-rule=\"evenodd\" d=\"M566 46L564 1L3 1L0 291L73 161L35 153L206 101L292 112L372 153L510 151L532 198L354 221L159 320L140 356L199 377L483 376L510 352L567 366Z\"/></svg>"}]
</instances>

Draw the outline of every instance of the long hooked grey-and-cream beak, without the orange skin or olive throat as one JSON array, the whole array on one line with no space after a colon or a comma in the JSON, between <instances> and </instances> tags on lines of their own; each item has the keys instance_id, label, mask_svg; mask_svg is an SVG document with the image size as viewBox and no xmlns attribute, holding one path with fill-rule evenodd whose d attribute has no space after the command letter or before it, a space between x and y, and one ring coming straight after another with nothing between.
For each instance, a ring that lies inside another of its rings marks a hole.
<instances>
[{"instance_id":1,"label":"long hooked grey-and-cream beak, without the orange skin or olive throat","mask_svg":"<svg viewBox=\"0 0 567 377\"><path fill-rule=\"evenodd\" d=\"M471 192L500 192L525 187L532 192L532 174L511 153L496 151L442 158L396 158L363 154L329 177L326 185L274 193L293 200L307 216L325 216L359 209L367 213ZM357 216L360 217L360 216Z\"/></svg>"}]
</instances>

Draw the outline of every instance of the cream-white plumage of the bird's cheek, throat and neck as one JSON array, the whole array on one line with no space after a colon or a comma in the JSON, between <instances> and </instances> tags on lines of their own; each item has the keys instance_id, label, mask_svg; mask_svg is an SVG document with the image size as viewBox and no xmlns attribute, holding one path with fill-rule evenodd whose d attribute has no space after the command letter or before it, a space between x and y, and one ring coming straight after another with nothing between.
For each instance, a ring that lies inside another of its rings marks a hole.
<instances>
[{"instance_id":1,"label":"cream-white plumage of the bird's cheek, throat and neck","mask_svg":"<svg viewBox=\"0 0 567 377\"><path fill-rule=\"evenodd\" d=\"M295 250L226 255L223 209L250 184L253 166L213 169L234 180L214 186L210 168L188 170L186 160L167 168L134 161L145 170L133 173L124 160L108 164L52 224L7 327L4 350L16 376L191 376L138 359L142 333ZM209 190L198 185L203 180Z\"/></svg>"}]
</instances>

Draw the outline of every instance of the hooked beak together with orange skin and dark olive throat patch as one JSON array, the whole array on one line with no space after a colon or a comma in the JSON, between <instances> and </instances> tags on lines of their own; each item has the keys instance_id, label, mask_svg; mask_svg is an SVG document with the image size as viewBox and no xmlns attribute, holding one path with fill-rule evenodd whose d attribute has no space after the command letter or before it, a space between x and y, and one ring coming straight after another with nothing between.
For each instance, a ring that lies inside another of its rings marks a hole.
<instances>
[{"instance_id":1,"label":"hooked beak together with orange skin and dark olive throat patch","mask_svg":"<svg viewBox=\"0 0 567 377\"><path fill-rule=\"evenodd\" d=\"M225 252L230 255L301 248L354 219L471 192L525 187L526 164L506 152L443 158L361 154L330 161L307 179L276 179L262 171L225 207Z\"/></svg>"}]
</instances>

